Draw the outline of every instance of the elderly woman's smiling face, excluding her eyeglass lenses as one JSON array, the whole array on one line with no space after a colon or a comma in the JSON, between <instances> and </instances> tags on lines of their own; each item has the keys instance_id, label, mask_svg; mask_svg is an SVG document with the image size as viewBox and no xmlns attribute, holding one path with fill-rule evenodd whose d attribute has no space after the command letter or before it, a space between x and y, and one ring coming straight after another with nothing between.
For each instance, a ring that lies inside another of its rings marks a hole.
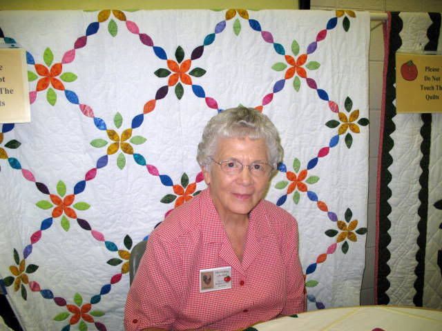
<instances>
[{"instance_id":1,"label":"elderly woman's smiling face, excluding her eyeglass lenses","mask_svg":"<svg viewBox=\"0 0 442 331\"><path fill-rule=\"evenodd\" d=\"M219 138L212 157L217 162L236 159L244 165L242 172L235 175L224 173L215 162L211 163L209 171L203 169L203 172L204 181L210 186L211 198L221 220L247 218L247 214L264 197L270 174L256 177L245 165L269 162L265 140Z\"/></svg>"}]
</instances>

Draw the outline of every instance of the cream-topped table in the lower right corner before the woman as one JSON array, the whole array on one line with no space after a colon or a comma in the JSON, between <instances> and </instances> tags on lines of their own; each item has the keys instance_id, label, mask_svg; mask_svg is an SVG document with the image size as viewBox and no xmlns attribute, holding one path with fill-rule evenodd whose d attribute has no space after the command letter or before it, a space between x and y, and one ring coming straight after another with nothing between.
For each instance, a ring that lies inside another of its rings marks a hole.
<instances>
[{"instance_id":1,"label":"cream-topped table in the lower right corner before the woman","mask_svg":"<svg viewBox=\"0 0 442 331\"><path fill-rule=\"evenodd\" d=\"M442 310L394 305L329 308L258 323L249 331L280 330L442 330Z\"/></svg>"}]
</instances>

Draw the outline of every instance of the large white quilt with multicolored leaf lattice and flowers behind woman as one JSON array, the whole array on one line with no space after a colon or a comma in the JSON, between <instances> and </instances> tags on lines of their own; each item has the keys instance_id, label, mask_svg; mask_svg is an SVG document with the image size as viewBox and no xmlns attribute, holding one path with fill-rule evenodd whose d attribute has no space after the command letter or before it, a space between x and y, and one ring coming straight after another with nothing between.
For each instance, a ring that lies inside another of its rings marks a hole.
<instances>
[{"instance_id":1,"label":"large white quilt with multicolored leaf lattice and flowers behind woman","mask_svg":"<svg viewBox=\"0 0 442 331\"><path fill-rule=\"evenodd\" d=\"M202 128L240 104L280 131L267 199L298 219L308 308L359 303L367 12L4 11L0 22L28 61L32 122L0 126L0 273L27 330L122 329L133 245L204 188Z\"/></svg>"}]
</instances>

